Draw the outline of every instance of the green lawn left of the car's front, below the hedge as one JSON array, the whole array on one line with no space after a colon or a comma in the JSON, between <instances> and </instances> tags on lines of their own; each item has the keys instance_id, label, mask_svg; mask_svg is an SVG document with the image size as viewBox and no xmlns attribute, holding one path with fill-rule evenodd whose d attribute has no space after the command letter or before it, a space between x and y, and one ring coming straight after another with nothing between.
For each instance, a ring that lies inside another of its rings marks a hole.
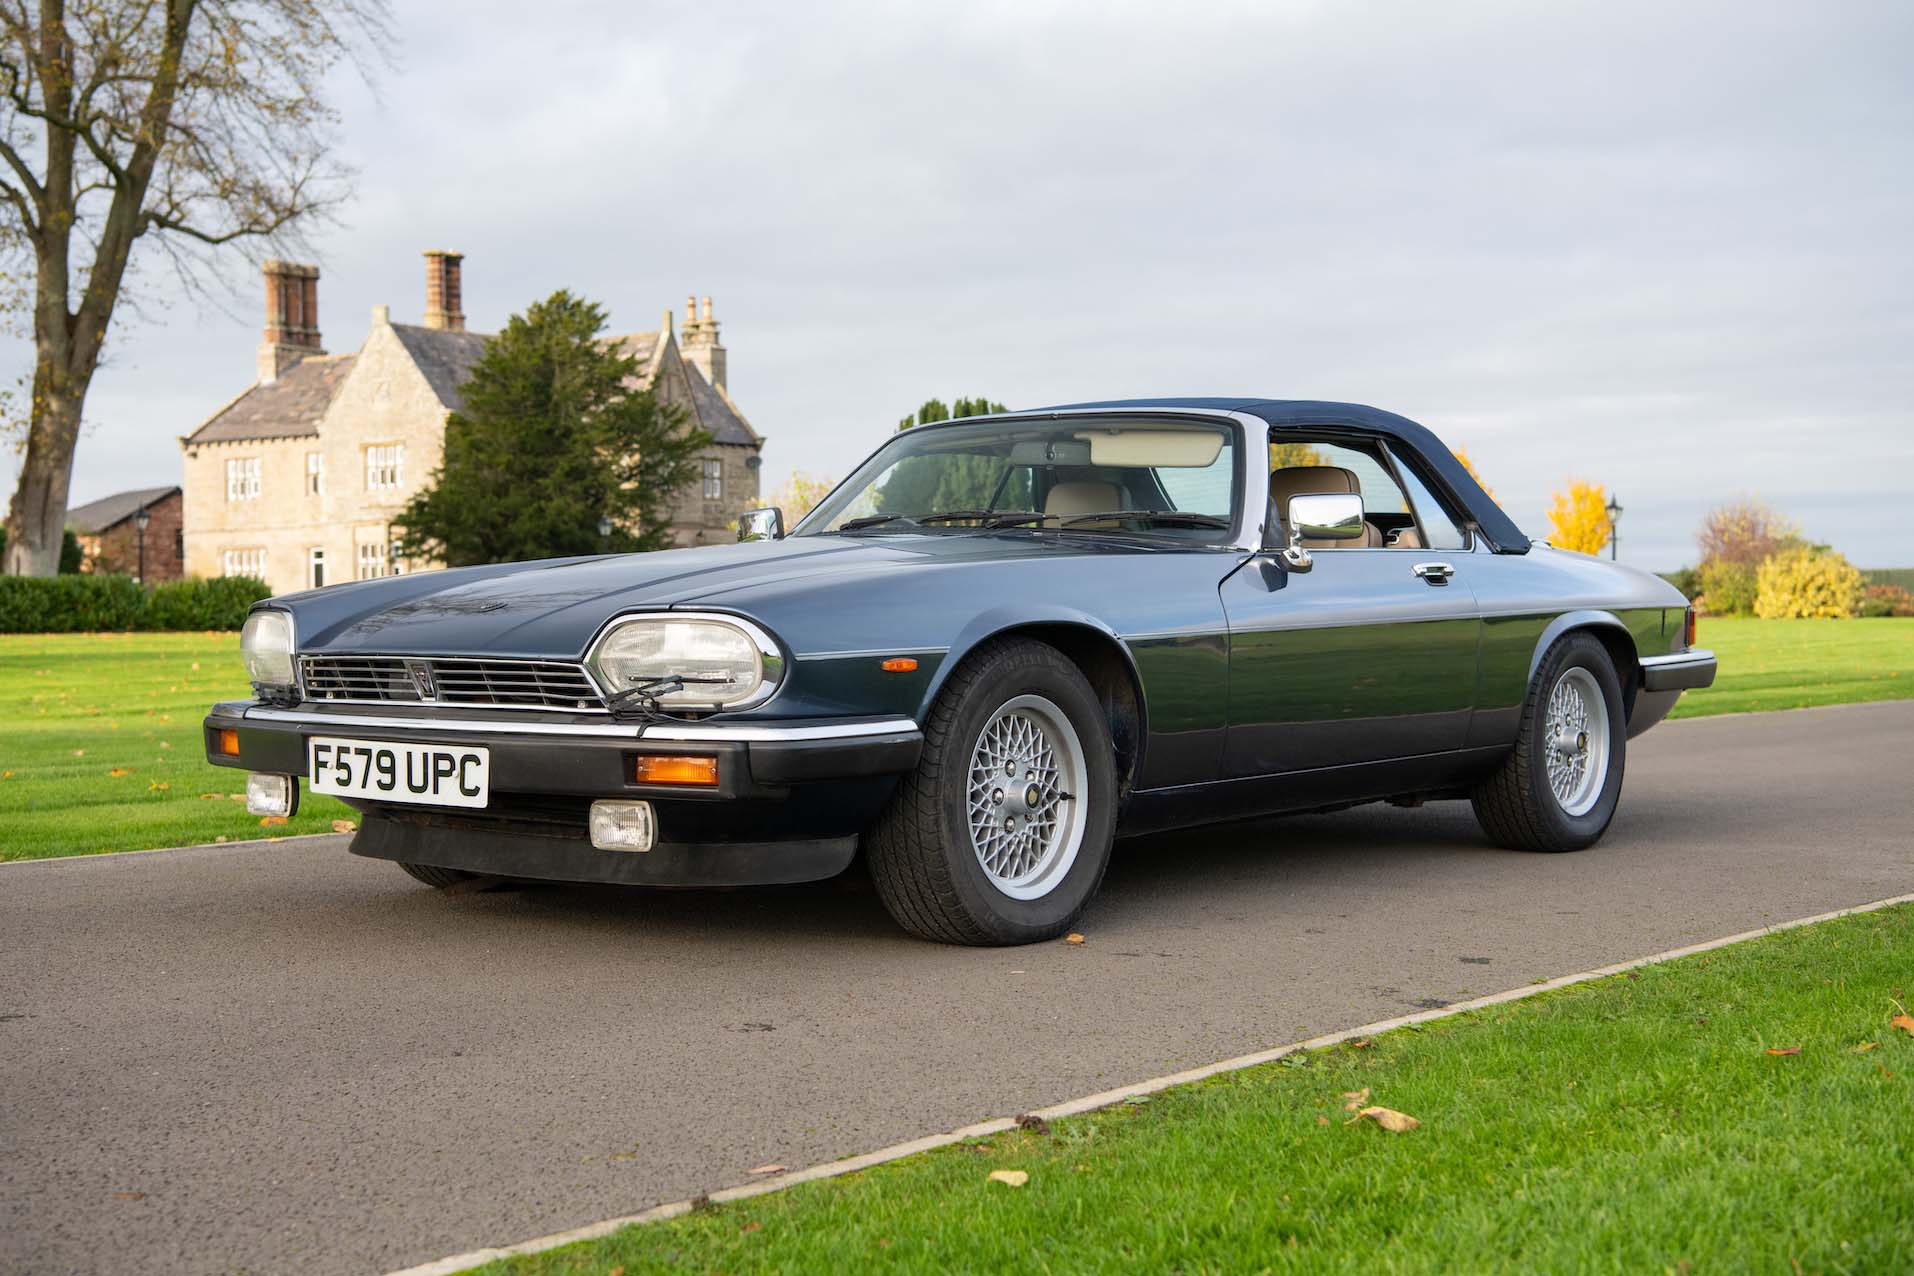
<instances>
[{"instance_id":1,"label":"green lawn left of the car's front, below the hedge","mask_svg":"<svg viewBox=\"0 0 1914 1276\"><path fill-rule=\"evenodd\" d=\"M245 773L207 765L199 719L251 694L235 633L0 635L0 861L331 832L245 813Z\"/></svg>"}]
</instances>

